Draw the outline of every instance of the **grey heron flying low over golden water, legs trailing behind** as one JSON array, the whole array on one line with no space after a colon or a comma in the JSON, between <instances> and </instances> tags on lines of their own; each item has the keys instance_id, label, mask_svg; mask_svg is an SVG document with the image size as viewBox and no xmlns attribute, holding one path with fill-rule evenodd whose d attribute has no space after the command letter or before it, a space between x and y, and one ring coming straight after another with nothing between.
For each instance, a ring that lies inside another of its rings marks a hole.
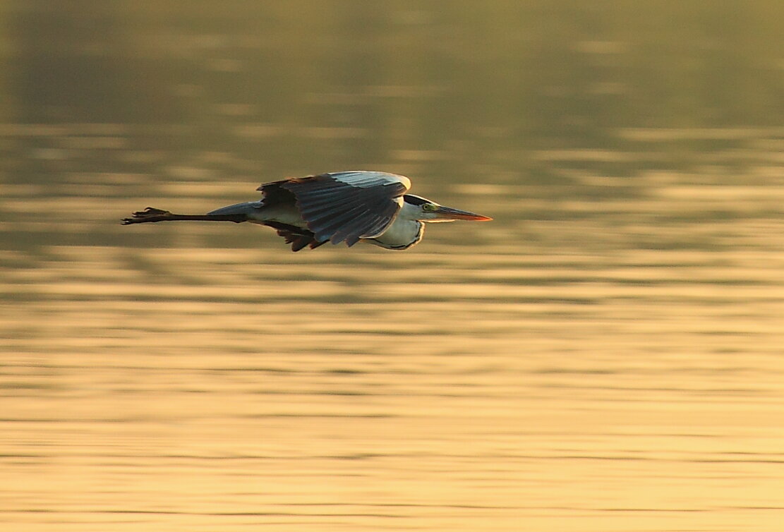
<instances>
[{"instance_id":1,"label":"grey heron flying low over golden water, legs trailing behind","mask_svg":"<svg viewBox=\"0 0 784 532\"><path fill-rule=\"evenodd\" d=\"M386 172L332 172L264 183L258 201L216 208L203 215L181 215L147 207L123 225L171 220L256 223L270 226L292 252L331 242L348 247L368 242L386 249L408 249L422 240L425 223L492 218L445 207L406 194L411 180Z\"/></svg>"}]
</instances>

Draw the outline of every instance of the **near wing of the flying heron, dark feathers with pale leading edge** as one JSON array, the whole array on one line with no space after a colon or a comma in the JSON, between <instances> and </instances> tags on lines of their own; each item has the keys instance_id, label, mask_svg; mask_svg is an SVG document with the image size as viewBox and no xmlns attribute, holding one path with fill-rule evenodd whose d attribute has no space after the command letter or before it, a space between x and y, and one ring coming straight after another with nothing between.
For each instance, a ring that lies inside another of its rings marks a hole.
<instances>
[{"instance_id":1,"label":"near wing of the flying heron, dark feathers with pale leading edge","mask_svg":"<svg viewBox=\"0 0 784 532\"><path fill-rule=\"evenodd\" d=\"M319 242L377 237L394 222L411 187L407 177L385 172L336 172L267 183L259 187L264 202L288 190L307 227ZM284 193L285 194L285 193Z\"/></svg>"}]
</instances>

